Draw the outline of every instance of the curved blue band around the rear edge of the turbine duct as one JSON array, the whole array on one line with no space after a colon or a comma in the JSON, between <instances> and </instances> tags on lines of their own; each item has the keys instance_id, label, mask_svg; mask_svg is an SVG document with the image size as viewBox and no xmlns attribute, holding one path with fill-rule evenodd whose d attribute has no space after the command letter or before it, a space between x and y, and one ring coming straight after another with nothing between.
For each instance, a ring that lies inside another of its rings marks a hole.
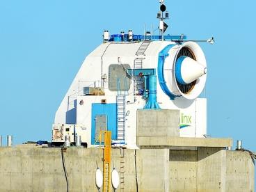
<instances>
[{"instance_id":1,"label":"curved blue band around the rear edge of the turbine duct","mask_svg":"<svg viewBox=\"0 0 256 192\"><path fill-rule=\"evenodd\" d=\"M169 88L166 85L166 81L164 79L163 75L163 63L167 56L169 56L168 51L175 45L167 45L162 51L159 52L159 58L158 58L158 67L157 67L157 77L161 86L161 89L163 90L166 95L170 97L171 100L174 100L176 95L173 95L173 93L170 92Z\"/></svg>"}]
</instances>

